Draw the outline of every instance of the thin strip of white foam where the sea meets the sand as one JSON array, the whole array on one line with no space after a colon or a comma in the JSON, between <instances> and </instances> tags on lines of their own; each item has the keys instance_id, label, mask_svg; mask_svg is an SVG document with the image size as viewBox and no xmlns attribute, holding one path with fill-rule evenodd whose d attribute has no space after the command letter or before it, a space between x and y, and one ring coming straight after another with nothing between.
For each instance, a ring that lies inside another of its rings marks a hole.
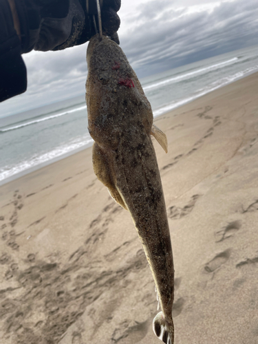
<instances>
[{"instance_id":1,"label":"thin strip of white foam where the sea meets the sand","mask_svg":"<svg viewBox=\"0 0 258 344\"><path fill-rule=\"evenodd\" d=\"M239 79L234 80L234 81L232 81L232 82L230 82L230 83L224 85L223 87L217 87L217 88L213 89L212 91L207 92L206 94L203 94L202 96L197 96L197 98L191 99L191 100L189 100L189 101L185 101L185 103L183 103L182 105L179 105L178 107L169 109L169 110L165 111L165 112L162 113L162 114L158 114L157 116L154 116L154 117L153 117L153 122L155 122L155 120L158 120L158 118L160 118L160 117L162 117L162 116L165 116L166 114L169 114L169 113L171 113L171 112L173 112L173 111L176 111L176 110L180 109L181 107L184 107L185 105L189 105L189 104L193 103L195 100L198 100L198 99L200 99L200 98L202 98L202 97L205 97L205 96L208 95L208 94L212 94L213 92L217 91L218 89L223 89L224 87L227 87L228 85L231 85L231 84L233 84L233 83L237 83L237 81L239 81L239 80L242 80L242 79L244 79L244 78L248 78L248 77L251 76L252 74L257 74L257 75L258 75L258 72L254 72L254 73L251 72L251 73L248 74L247 76L240 77ZM184 100L182 100L182 101L184 102ZM168 107L169 107L169 106L170 106L170 105L168 105ZM158 110L156 110L156 111L158 111ZM59 160L63 160L63 159L65 159L65 158L69 157L70 155L73 155L73 154L78 153L79 151L83 151L84 149L88 149L89 147L92 147L92 144L93 144L93 142L89 142L88 144L85 144L85 146L83 146L83 147L80 147L80 148L78 148L78 149L74 149L73 151L69 151L69 152L67 152L67 153L65 153L65 154L62 154L62 155L58 155L57 157L52 158L52 159L50 159L50 160L47 160L46 162L41 162L40 164L37 164L37 165L35 165L35 166L32 166L32 167L30 167L30 168L28 168L28 169L25 169L25 170L21 171L21 172L15 173L14 175L11 175L11 176L8 177L8 178L5 178L5 179L3 179L3 180L0 180L0 186L2 186L2 185L4 185L4 184L8 184L9 182L12 182L13 180L17 180L17 179L21 178L23 175L30 174L30 173L32 173L32 172L34 172L34 171L37 171L38 169L41 169L41 168L43 168L43 167L45 167L45 166L48 166L48 165L50 165L50 164L53 164L54 162L57 162L57 161L59 161Z\"/></svg>"}]
</instances>

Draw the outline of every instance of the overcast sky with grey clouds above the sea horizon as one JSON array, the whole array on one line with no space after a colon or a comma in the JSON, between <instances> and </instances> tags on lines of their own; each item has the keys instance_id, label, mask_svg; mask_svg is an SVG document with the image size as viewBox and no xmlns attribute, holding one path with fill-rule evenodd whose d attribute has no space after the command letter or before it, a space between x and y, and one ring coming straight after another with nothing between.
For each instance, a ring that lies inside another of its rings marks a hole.
<instances>
[{"instance_id":1,"label":"overcast sky with grey clouds above the sea horizon","mask_svg":"<svg viewBox=\"0 0 258 344\"><path fill-rule=\"evenodd\" d=\"M139 77L258 44L258 0L122 0L118 14ZM0 117L83 94L86 49L24 54L28 90L0 103Z\"/></svg>"}]
</instances>

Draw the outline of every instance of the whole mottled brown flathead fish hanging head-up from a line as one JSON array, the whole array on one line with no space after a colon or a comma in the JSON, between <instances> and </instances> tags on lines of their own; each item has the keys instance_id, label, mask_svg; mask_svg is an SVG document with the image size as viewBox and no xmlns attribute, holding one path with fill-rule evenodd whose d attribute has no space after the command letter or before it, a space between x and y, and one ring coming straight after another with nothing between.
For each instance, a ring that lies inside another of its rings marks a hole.
<instances>
[{"instance_id":1,"label":"whole mottled brown flathead fish hanging head-up from a line","mask_svg":"<svg viewBox=\"0 0 258 344\"><path fill-rule=\"evenodd\" d=\"M167 151L165 134L122 49L98 34L87 47L86 103L94 140L94 173L131 214L153 275L161 312L155 335L174 343L174 266L169 223L151 135Z\"/></svg>"}]
</instances>

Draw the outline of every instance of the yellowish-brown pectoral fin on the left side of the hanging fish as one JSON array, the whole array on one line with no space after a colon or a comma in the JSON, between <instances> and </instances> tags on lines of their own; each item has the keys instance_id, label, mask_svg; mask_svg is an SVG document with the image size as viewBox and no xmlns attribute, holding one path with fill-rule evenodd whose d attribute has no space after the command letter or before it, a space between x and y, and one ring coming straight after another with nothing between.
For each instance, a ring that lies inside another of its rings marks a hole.
<instances>
[{"instance_id":1,"label":"yellowish-brown pectoral fin on the left side of the hanging fish","mask_svg":"<svg viewBox=\"0 0 258 344\"><path fill-rule=\"evenodd\" d=\"M100 180L100 182L107 186L107 189L109 190L109 194L111 195L111 197L118 204L120 204L120 206L127 210L125 202L122 200L122 197L116 189L116 184L114 182L114 178L112 175L109 158L105 154L105 152L103 152L102 149L98 147L98 144L96 144L96 142L92 147L92 162L94 173L98 177L98 180Z\"/></svg>"}]
</instances>

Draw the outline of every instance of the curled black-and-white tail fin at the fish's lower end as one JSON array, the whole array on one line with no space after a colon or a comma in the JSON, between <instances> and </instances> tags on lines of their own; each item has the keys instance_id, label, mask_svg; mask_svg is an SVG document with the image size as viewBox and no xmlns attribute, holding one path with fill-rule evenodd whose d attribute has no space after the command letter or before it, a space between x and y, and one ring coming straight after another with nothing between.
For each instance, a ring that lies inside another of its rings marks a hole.
<instances>
[{"instance_id":1,"label":"curled black-and-white tail fin at the fish's lower end","mask_svg":"<svg viewBox=\"0 0 258 344\"><path fill-rule=\"evenodd\" d=\"M153 319L153 332L163 343L174 343L173 323L167 323L167 321L164 319L162 312L159 312Z\"/></svg>"}]
</instances>

